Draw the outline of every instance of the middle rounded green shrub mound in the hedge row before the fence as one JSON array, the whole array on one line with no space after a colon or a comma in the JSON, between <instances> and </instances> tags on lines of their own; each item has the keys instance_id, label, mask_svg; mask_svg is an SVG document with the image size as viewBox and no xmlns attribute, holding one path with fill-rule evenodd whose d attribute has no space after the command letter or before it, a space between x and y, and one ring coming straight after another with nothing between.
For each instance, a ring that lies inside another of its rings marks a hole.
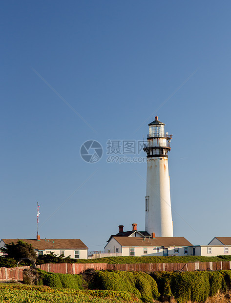
<instances>
[{"instance_id":1,"label":"middle rounded green shrub mound in the hedge row before the fence","mask_svg":"<svg viewBox=\"0 0 231 303\"><path fill-rule=\"evenodd\" d=\"M129 291L143 302L153 302L160 294L157 283L148 274L129 271L98 271L88 285L93 289Z\"/></svg>"}]
</instances>

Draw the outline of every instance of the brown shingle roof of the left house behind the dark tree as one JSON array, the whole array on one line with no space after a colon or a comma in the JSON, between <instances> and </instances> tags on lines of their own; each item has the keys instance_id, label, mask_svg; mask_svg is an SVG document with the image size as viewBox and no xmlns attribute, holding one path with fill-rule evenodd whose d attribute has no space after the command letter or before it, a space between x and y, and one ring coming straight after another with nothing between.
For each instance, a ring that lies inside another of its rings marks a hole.
<instances>
[{"instance_id":1,"label":"brown shingle roof of the left house behind the dark tree","mask_svg":"<svg viewBox=\"0 0 231 303\"><path fill-rule=\"evenodd\" d=\"M15 244L19 239L2 239L5 244L14 242ZM88 247L81 241L81 239L20 239L23 242L31 244L35 249L39 250L52 250L52 249L87 249ZM49 242L48 242L49 240ZM54 243L53 243L54 241Z\"/></svg>"}]
</instances>

